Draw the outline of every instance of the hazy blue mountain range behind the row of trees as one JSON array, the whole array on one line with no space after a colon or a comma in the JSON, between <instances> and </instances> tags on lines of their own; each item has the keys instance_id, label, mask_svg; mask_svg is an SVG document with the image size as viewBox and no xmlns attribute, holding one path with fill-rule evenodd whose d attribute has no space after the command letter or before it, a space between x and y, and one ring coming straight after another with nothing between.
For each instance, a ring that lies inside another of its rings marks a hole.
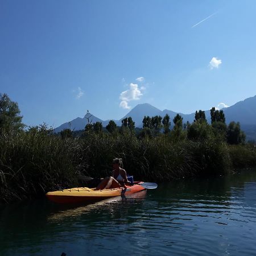
<instances>
[{"instance_id":1,"label":"hazy blue mountain range behind the row of trees","mask_svg":"<svg viewBox=\"0 0 256 256\"><path fill-rule=\"evenodd\" d=\"M226 117L226 123L230 123L231 121L236 121L241 123L241 127L245 130L250 131L250 138L254 138L255 134L255 140L256 140L256 96L246 98L243 101L237 102L233 106L230 106L229 108L222 109L225 113ZM135 122L136 127L142 127L142 120L144 116L148 115L150 117L154 115L160 115L164 117L164 115L170 115L171 122L172 119L174 119L175 115L178 114L176 112L173 112L171 110L160 110L158 108L155 108L154 106L150 104L138 104L133 109L130 110L129 113L127 113L123 118L126 117L132 117L133 121ZM191 114L183 114L179 113L181 117L183 117L183 122L193 122L195 118L195 113ZM208 119L208 122L210 122L210 110L205 110L205 115ZM55 129L55 132L58 133L59 131L63 129L70 128L71 130L82 130L84 129L85 125L88 123L88 119L94 123L94 122L101 122L102 125L105 127L108 125L109 120L101 120L100 118L95 117L94 115L87 113L84 118L77 117L76 119L73 119L70 122L63 123L63 125L57 127ZM122 125L122 119L114 120L115 123L117 123L118 126ZM255 129L255 130L254 130ZM255 131L255 133L254 133Z\"/></svg>"}]
</instances>

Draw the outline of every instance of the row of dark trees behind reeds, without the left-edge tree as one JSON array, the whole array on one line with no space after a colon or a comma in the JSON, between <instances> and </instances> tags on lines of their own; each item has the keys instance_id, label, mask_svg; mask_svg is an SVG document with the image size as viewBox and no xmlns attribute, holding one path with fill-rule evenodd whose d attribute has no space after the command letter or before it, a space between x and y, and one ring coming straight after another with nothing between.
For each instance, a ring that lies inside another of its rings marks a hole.
<instances>
[{"instance_id":1,"label":"row of dark trees behind reeds, without the left-edge tree","mask_svg":"<svg viewBox=\"0 0 256 256\"><path fill-rule=\"evenodd\" d=\"M172 119L171 127L170 115L166 114L163 118L160 115L153 117L144 116L142 120L143 128L136 129L135 122L131 117L122 119L121 127L110 120L106 127L102 126L101 122L92 123L88 119L82 136L88 133L108 133L111 135L117 134L133 134L138 138L153 138L157 136L166 136L174 141L182 141L183 139L191 139L200 141L208 138L216 138L220 141L228 142L229 144L240 144L245 142L245 133L241 130L239 122L230 122L226 125L225 114L223 110L216 108L210 109L211 123L207 122L205 112L203 110L196 111L195 119L192 123L183 123L183 117L176 114ZM61 137L72 137L70 129L64 129L60 132Z\"/></svg>"}]
</instances>

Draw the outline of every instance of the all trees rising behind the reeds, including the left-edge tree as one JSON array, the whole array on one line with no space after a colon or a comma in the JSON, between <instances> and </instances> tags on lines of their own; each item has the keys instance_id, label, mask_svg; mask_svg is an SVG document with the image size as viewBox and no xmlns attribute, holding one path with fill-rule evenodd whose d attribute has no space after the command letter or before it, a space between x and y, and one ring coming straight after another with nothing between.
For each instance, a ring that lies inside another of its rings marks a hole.
<instances>
[{"instance_id":1,"label":"all trees rising behind the reeds, including the left-edge tree","mask_svg":"<svg viewBox=\"0 0 256 256\"><path fill-rule=\"evenodd\" d=\"M142 120L143 128L139 129L139 131L137 129L137 133L135 133L135 122L131 117L123 118L121 127L118 127L113 120L110 120L105 128L101 122L92 123L88 118L88 123L84 128L82 136L86 136L88 133L134 134L138 138L152 138L165 135L174 141L181 141L186 138L201 140L214 137L229 144L245 142L245 133L241 130L240 123L230 122L229 125L226 125L223 110L217 110L214 107L210 109L210 119L211 123L209 124L203 110L196 111L195 119L192 123L183 123L183 117L180 114L176 114L174 119L172 119L173 125L171 127L168 114L163 118L160 115L144 116ZM19 131L24 126L18 104L11 101L7 94L0 94L0 131ZM28 130L33 129L36 129L36 127L30 127ZM64 129L60 132L60 135L62 138L72 137L73 132L71 129Z\"/></svg>"}]
</instances>

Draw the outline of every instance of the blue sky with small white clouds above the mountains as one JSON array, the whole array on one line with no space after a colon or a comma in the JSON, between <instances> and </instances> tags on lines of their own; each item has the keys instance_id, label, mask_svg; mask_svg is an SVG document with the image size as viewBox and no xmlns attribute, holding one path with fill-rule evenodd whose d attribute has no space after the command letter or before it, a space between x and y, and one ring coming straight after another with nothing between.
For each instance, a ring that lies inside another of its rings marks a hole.
<instances>
[{"instance_id":1,"label":"blue sky with small white clouds above the mountains","mask_svg":"<svg viewBox=\"0 0 256 256\"><path fill-rule=\"evenodd\" d=\"M256 3L0 2L0 92L27 125L192 113L256 94Z\"/></svg>"}]
</instances>

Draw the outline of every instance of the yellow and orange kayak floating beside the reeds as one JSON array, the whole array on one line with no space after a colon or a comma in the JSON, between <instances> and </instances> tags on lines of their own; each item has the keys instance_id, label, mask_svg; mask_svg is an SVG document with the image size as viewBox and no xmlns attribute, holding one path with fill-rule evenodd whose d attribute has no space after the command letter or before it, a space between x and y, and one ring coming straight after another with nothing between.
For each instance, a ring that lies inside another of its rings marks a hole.
<instances>
[{"instance_id":1,"label":"yellow and orange kayak floating beside the reeds","mask_svg":"<svg viewBox=\"0 0 256 256\"><path fill-rule=\"evenodd\" d=\"M109 197L129 195L144 190L145 188L139 183L126 186L127 189L123 188L112 188L95 190L94 188L69 188L61 191L48 192L46 196L49 200L60 203L60 204L70 204L70 203L82 203L86 201L100 201Z\"/></svg>"}]
</instances>

